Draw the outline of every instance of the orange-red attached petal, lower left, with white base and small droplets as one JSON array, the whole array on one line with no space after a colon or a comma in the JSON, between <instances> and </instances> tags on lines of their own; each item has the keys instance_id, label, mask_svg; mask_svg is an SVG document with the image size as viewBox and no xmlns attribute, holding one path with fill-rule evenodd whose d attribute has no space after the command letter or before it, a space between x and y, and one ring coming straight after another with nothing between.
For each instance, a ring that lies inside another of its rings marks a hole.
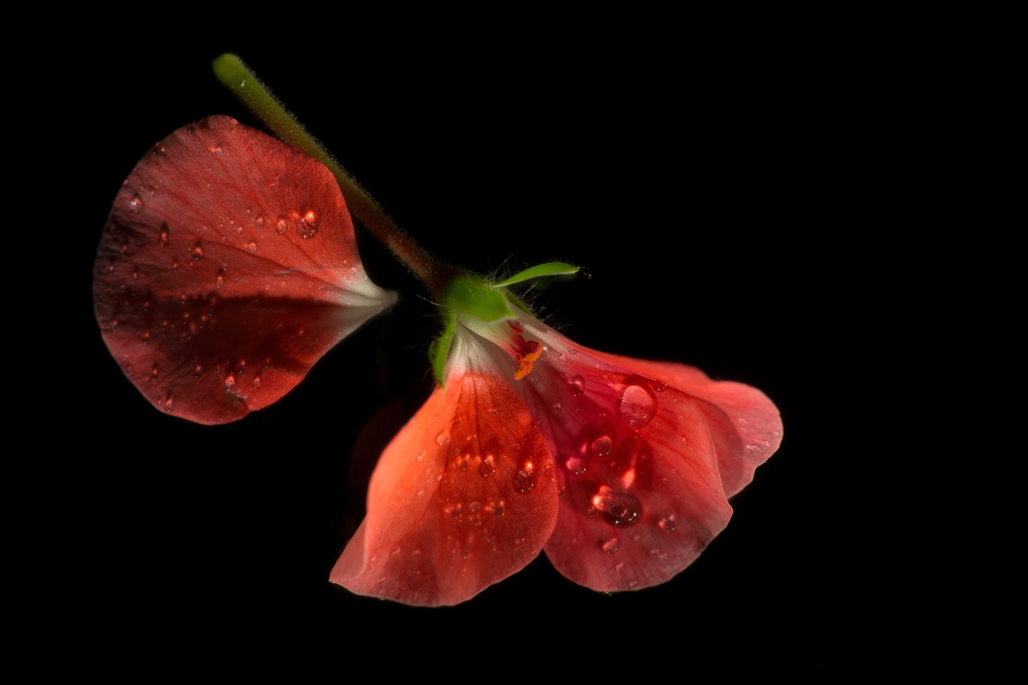
<instances>
[{"instance_id":1,"label":"orange-red attached petal, lower left, with white base and small droplets","mask_svg":"<svg viewBox=\"0 0 1028 685\"><path fill-rule=\"evenodd\" d=\"M550 451L484 346L457 327L446 389L390 443L332 570L359 595L440 606L523 568L557 518Z\"/></svg>"}]
</instances>

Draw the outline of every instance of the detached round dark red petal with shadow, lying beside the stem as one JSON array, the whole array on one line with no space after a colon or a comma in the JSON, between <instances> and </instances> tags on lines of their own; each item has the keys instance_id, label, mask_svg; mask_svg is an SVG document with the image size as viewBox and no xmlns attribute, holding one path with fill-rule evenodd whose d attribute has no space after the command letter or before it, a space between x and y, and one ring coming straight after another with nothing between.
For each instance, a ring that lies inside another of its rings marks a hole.
<instances>
[{"instance_id":1,"label":"detached round dark red petal with shadow, lying beside the stem","mask_svg":"<svg viewBox=\"0 0 1028 685\"><path fill-rule=\"evenodd\" d=\"M225 116L180 128L133 169L93 289L133 384L199 423L276 402L395 301L365 276L329 170Z\"/></svg>"}]
</instances>

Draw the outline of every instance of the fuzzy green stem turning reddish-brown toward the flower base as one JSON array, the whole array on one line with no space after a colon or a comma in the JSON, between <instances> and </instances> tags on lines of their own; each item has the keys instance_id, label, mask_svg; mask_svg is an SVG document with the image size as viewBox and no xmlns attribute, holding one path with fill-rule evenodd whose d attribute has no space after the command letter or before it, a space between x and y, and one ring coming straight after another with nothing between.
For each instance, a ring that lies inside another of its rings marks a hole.
<instances>
[{"instance_id":1,"label":"fuzzy green stem turning reddish-brown toward the flower base","mask_svg":"<svg viewBox=\"0 0 1028 685\"><path fill-rule=\"evenodd\" d=\"M409 266L434 295L445 291L457 270L435 260L404 233L381 205L286 111L242 60L234 54L222 54L214 61L214 73L284 143L310 155L332 172L351 214Z\"/></svg>"}]
</instances>

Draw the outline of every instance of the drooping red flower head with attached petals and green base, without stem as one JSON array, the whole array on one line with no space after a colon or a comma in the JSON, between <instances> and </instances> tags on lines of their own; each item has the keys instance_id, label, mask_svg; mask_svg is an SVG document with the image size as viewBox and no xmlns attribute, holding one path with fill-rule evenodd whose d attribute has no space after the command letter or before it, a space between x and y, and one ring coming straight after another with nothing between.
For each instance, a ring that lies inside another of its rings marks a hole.
<instances>
[{"instance_id":1,"label":"drooping red flower head with attached petals and green base, without stem","mask_svg":"<svg viewBox=\"0 0 1028 685\"><path fill-rule=\"evenodd\" d=\"M439 384L382 453L331 574L357 594L452 605L541 549L597 591L662 583L778 448L756 388L581 347L475 278L449 295Z\"/></svg>"}]
</instances>

